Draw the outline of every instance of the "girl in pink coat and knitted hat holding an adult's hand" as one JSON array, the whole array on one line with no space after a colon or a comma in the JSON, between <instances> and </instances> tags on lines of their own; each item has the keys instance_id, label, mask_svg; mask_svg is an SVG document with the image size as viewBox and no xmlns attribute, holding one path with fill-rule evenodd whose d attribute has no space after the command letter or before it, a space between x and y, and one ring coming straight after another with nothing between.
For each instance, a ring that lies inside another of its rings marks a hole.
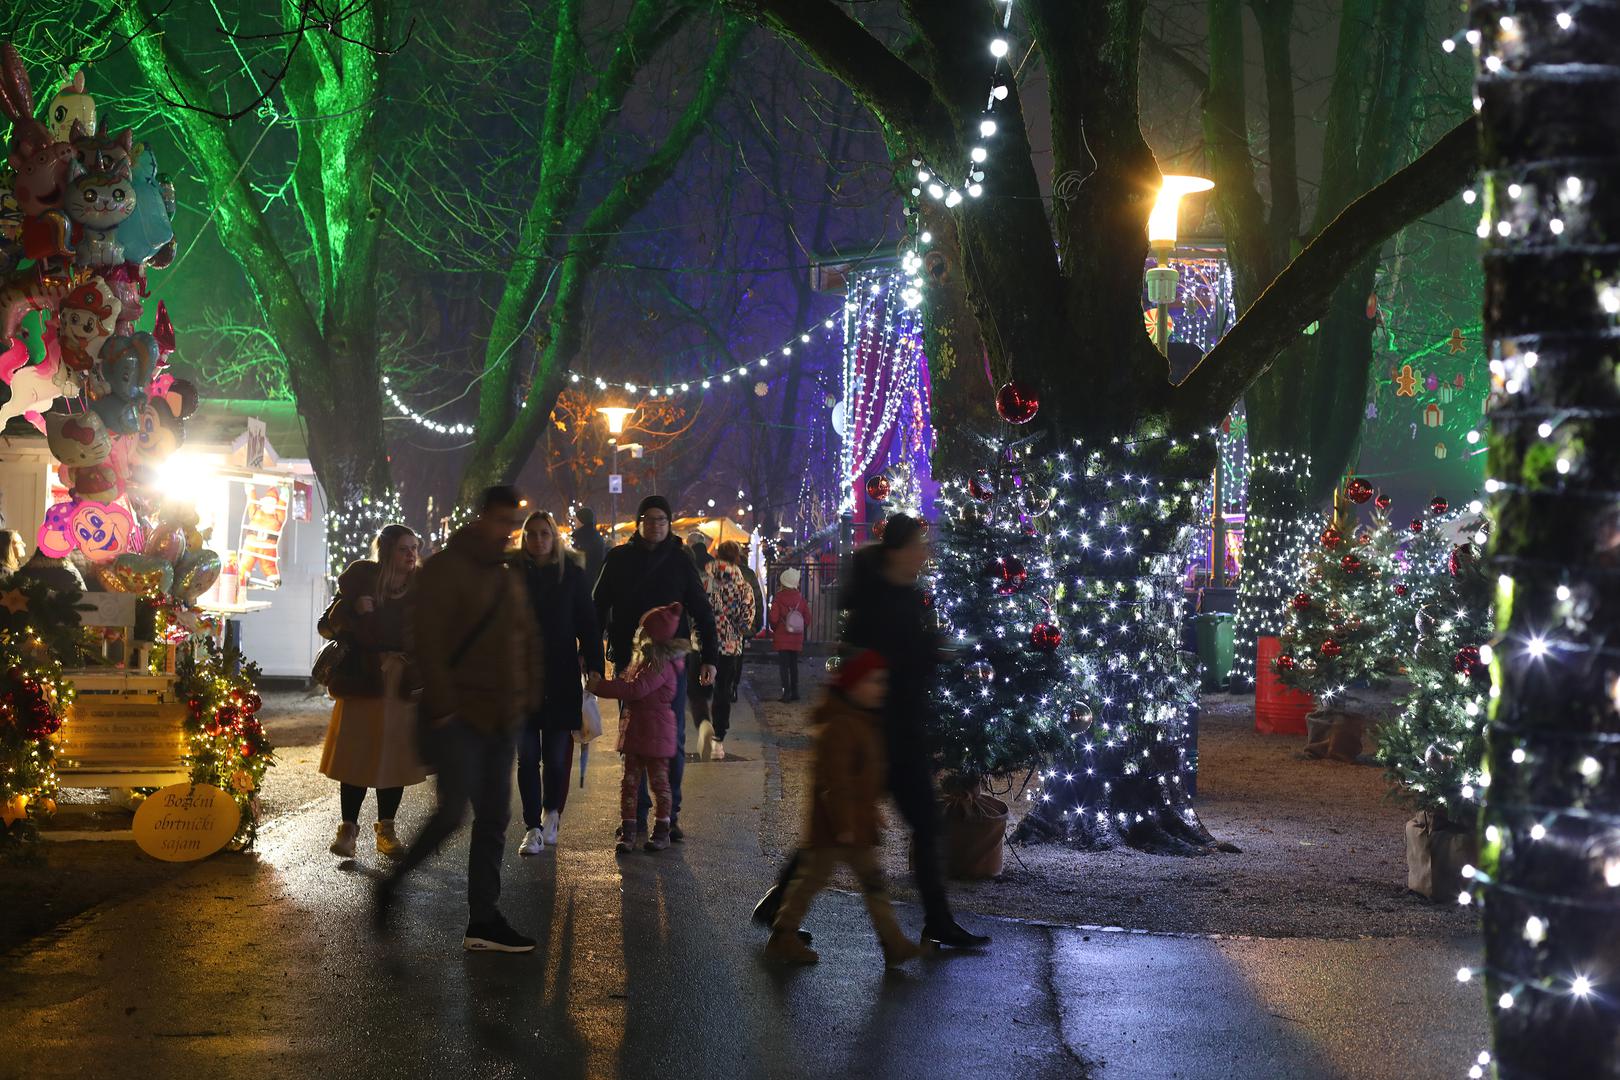
<instances>
[{"instance_id":1,"label":"girl in pink coat and knitted hat holding an adult's hand","mask_svg":"<svg viewBox=\"0 0 1620 1080\"><path fill-rule=\"evenodd\" d=\"M676 756L676 677L685 664L687 643L676 643L680 604L654 607L642 615L635 631L635 656L622 677L593 677L591 693L625 703L619 722L624 780L619 784L619 852L635 850L635 795L646 774L653 793L654 824L648 852L669 847L669 759Z\"/></svg>"}]
</instances>

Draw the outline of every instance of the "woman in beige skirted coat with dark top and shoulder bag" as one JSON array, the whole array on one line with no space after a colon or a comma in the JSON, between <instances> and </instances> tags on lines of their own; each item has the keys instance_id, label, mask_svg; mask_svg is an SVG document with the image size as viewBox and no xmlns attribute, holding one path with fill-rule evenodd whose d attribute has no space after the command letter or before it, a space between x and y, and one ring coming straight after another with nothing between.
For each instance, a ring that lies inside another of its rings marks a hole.
<instances>
[{"instance_id":1,"label":"woman in beige skirted coat with dark top and shoulder bag","mask_svg":"<svg viewBox=\"0 0 1620 1080\"><path fill-rule=\"evenodd\" d=\"M416 756L416 704L421 688L405 654L407 593L421 541L403 525L387 525L371 546L373 559L348 565L337 597L321 617L321 635L348 643L348 656L327 687L337 703L326 729L321 772L342 785L343 819L332 853L355 857L360 806L377 789L377 853L399 858L394 813L405 789L428 779Z\"/></svg>"}]
</instances>

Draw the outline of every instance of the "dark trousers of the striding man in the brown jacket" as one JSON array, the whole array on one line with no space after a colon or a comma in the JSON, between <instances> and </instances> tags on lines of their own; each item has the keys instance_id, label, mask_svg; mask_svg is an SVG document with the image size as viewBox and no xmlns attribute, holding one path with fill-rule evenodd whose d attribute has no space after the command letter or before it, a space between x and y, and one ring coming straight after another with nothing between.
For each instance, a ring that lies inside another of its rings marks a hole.
<instances>
[{"instance_id":1,"label":"dark trousers of the striding man in the brown jacket","mask_svg":"<svg viewBox=\"0 0 1620 1080\"><path fill-rule=\"evenodd\" d=\"M473 806L473 842L467 853L467 912L473 923L494 918L501 899L501 853L512 816L512 732L481 732L458 717L441 727L420 724L423 758L437 769L439 803L390 874L399 882L439 850Z\"/></svg>"}]
</instances>

